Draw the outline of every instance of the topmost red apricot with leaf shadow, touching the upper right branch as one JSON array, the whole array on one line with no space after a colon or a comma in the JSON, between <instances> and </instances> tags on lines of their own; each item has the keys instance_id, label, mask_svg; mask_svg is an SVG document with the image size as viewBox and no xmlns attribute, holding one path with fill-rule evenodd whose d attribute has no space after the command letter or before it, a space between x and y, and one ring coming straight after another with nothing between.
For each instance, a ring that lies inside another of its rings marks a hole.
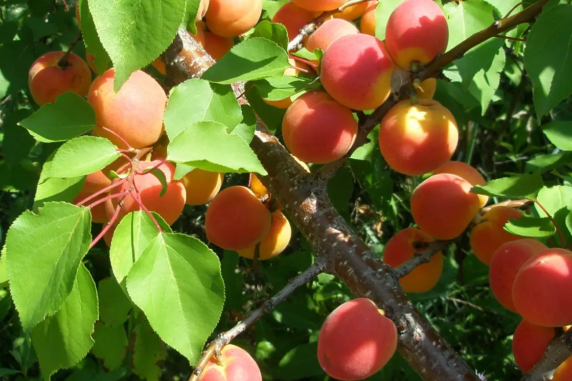
<instances>
[{"instance_id":1,"label":"topmost red apricot with leaf shadow, touching the upper right branch","mask_svg":"<svg viewBox=\"0 0 572 381\"><path fill-rule=\"evenodd\" d=\"M427 65L448 41L447 19L433 0L404 0L387 21L387 49L402 69L411 69L413 61Z\"/></svg>"}]
</instances>

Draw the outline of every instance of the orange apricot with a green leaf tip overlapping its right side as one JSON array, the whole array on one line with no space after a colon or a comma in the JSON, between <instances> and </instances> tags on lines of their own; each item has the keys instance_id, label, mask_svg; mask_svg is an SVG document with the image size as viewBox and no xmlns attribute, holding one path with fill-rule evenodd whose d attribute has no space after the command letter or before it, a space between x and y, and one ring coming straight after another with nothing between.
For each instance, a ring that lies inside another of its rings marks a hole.
<instances>
[{"instance_id":1,"label":"orange apricot with a green leaf tip overlapping its right side","mask_svg":"<svg viewBox=\"0 0 572 381\"><path fill-rule=\"evenodd\" d=\"M521 212L509 206L497 206L486 212L483 220L472 228L469 235L469 243L476 258L488 264L492 254L503 243L522 239L522 236L509 233L504 228L509 219L521 217Z\"/></svg>"}]
</instances>

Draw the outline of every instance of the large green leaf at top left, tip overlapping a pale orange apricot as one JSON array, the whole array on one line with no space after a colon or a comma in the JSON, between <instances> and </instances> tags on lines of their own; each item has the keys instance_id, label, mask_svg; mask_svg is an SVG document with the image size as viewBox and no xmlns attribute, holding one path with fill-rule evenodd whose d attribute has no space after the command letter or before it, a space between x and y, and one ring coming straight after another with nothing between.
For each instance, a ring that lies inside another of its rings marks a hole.
<instances>
[{"instance_id":1,"label":"large green leaf at top left, tip overlapping a pale orange apricot","mask_svg":"<svg viewBox=\"0 0 572 381\"><path fill-rule=\"evenodd\" d=\"M101 44L116 69L117 92L129 76L149 65L173 42L185 0L89 0Z\"/></svg>"}]
</instances>

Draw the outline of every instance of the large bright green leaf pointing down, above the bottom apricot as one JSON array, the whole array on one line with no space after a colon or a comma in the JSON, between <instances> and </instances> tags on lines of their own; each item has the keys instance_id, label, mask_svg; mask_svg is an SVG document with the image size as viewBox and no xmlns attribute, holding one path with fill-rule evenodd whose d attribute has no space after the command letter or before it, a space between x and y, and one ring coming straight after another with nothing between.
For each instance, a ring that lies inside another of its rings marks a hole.
<instances>
[{"instance_id":1,"label":"large bright green leaf pointing down, above the bottom apricot","mask_svg":"<svg viewBox=\"0 0 572 381\"><path fill-rule=\"evenodd\" d=\"M129 271L127 289L161 339L196 364L223 310L216 254L196 238L163 232Z\"/></svg>"}]
</instances>

